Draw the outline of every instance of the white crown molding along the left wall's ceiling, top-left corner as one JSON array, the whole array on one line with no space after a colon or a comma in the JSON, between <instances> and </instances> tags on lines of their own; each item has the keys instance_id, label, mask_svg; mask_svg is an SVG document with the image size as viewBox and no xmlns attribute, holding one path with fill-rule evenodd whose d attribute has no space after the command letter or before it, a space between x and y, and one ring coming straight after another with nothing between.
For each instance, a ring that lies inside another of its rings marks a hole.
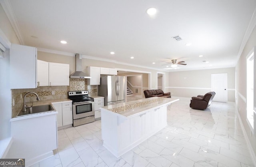
<instances>
[{"instance_id":1,"label":"white crown molding along the left wall's ceiling, top-left corner","mask_svg":"<svg viewBox=\"0 0 256 167\"><path fill-rule=\"evenodd\" d=\"M4 12L6 13L6 16L8 17L10 24L12 25L12 28L13 28L20 44L25 45L22 35L20 33L20 26L18 24L15 14L12 10L12 5L10 4L10 1L9 0L0 0L0 4L2 5L2 8L4 9Z\"/></svg>"}]
</instances>

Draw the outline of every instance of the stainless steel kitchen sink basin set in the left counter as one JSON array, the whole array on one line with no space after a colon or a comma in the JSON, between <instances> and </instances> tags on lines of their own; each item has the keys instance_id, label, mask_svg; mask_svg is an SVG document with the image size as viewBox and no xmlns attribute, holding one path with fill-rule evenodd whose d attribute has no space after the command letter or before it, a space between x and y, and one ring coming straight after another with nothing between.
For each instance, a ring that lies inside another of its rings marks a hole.
<instances>
[{"instance_id":1,"label":"stainless steel kitchen sink basin set in the left counter","mask_svg":"<svg viewBox=\"0 0 256 167\"><path fill-rule=\"evenodd\" d=\"M52 107L51 104L47 105L36 105L32 107L26 108L27 111L20 111L20 113L17 116L23 116L23 115L29 115L29 114L35 114L35 113L42 113L42 112L48 112L48 111L55 111L54 107Z\"/></svg>"}]
</instances>

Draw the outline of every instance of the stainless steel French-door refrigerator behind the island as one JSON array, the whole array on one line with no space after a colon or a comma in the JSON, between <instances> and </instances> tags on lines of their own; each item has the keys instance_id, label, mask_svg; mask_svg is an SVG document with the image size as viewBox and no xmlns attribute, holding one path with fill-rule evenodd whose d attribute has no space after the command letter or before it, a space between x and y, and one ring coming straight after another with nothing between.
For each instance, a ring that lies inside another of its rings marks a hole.
<instances>
[{"instance_id":1,"label":"stainless steel French-door refrigerator behind the island","mask_svg":"<svg viewBox=\"0 0 256 167\"><path fill-rule=\"evenodd\" d=\"M98 95L105 97L105 105L125 102L126 80L124 76L102 76Z\"/></svg>"}]
</instances>

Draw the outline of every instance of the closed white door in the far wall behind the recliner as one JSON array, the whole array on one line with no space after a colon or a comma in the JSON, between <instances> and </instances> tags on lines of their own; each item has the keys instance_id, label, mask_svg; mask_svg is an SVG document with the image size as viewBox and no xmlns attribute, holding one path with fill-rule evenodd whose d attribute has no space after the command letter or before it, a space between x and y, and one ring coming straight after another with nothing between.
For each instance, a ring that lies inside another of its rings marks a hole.
<instances>
[{"instance_id":1,"label":"closed white door in the far wall behind the recliner","mask_svg":"<svg viewBox=\"0 0 256 167\"><path fill-rule=\"evenodd\" d=\"M212 74L212 91L216 94L213 101L228 101L228 74Z\"/></svg>"}]
</instances>

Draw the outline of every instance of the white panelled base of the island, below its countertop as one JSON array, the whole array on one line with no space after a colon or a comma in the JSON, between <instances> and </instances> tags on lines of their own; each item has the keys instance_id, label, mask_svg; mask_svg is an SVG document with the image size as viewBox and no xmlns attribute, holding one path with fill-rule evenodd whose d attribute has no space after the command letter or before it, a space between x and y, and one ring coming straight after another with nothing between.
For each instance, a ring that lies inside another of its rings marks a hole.
<instances>
[{"instance_id":1,"label":"white panelled base of the island, below its countertop","mask_svg":"<svg viewBox=\"0 0 256 167\"><path fill-rule=\"evenodd\" d=\"M103 145L120 157L167 125L167 105L130 118L101 109Z\"/></svg>"}]
</instances>

